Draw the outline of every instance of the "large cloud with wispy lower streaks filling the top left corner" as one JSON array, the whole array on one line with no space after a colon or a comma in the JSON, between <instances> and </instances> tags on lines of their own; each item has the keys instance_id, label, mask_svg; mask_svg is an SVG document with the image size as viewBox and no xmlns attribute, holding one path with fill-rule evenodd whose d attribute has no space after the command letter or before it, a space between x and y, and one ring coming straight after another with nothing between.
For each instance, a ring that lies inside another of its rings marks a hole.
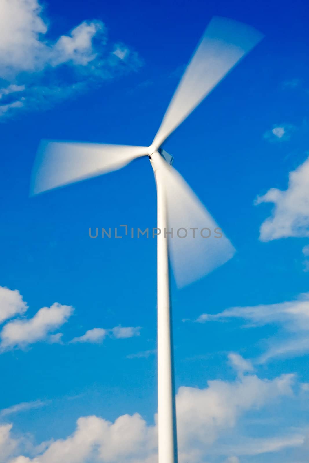
<instances>
[{"instance_id":1,"label":"large cloud with wispy lower streaks filling the top left corner","mask_svg":"<svg viewBox=\"0 0 309 463\"><path fill-rule=\"evenodd\" d=\"M48 107L141 66L136 52L108 43L99 20L83 21L55 40L46 37L49 22L38 0L1 2L2 119L21 108Z\"/></svg>"}]
</instances>

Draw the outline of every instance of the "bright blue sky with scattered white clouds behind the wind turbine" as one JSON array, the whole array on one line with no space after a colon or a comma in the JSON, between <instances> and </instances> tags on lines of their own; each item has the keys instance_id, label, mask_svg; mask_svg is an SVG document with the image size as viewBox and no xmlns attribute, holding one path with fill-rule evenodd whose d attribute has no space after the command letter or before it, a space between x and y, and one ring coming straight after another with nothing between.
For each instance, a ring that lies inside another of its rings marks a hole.
<instances>
[{"instance_id":1,"label":"bright blue sky with scattered white clouds behind the wind turbine","mask_svg":"<svg viewBox=\"0 0 309 463\"><path fill-rule=\"evenodd\" d=\"M214 15L265 38L164 144L237 250L172 281L180 458L308 461L304 2L4 0L0 463L156 461L155 241L88 236L155 226L152 169L30 178L42 138L148 146Z\"/></svg>"}]
</instances>

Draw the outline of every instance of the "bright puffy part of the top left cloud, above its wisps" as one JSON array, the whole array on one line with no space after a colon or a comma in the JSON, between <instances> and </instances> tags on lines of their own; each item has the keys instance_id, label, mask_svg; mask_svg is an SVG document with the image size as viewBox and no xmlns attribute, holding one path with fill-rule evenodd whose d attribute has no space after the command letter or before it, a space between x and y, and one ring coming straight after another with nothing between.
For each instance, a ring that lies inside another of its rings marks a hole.
<instances>
[{"instance_id":1,"label":"bright puffy part of the top left cloud, above its wisps","mask_svg":"<svg viewBox=\"0 0 309 463\"><path fill-rule=\"evenodd\" d=\"M0 16L0 77L3 79L16 77L20 71L38 72L46 65L86 66L97 56L93 38L105 30L101 21L84 21L53 43L44 38L48 25L42 19L43 8L38 0L3 2ZM102 36L101 45L105 42Z\"/></svg>"}]
</instances>

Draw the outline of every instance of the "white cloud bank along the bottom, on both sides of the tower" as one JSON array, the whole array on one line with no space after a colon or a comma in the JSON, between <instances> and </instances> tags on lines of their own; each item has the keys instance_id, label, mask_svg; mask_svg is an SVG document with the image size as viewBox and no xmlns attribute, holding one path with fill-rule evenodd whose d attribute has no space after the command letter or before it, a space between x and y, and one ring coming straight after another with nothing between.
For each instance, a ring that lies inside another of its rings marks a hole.
<instances>
[{"instance_id":1,"label":"white cloud bank along the bottom, on both sides of the tower","mask_svg":"<svg viewBox=\"0 0 309 463\"><path fill-rule=\"evenodd\" d=\"M231 382L209 381L204 389L180 388L176 398L179 461L209 461L209 450L214 443L233 429L242 415L267 407L274 400L286 401L292 394L294 381L293 375L273 380L246 375ZM217 445L219 448L221 443ZM236 463L237 453L230 450L221 451L220 455L228 457L226 462ZM269 446L265 446L265 451L269 451ZM81 417L76 430L68 437L49 443L46 450L37 452L34 458L26 451L19 454L15 451L10 463L62 461L155 463L158 461L157 425L147 425L138 413L120 416L114 422L97 416Z\"/></svg>"}]
</instances>

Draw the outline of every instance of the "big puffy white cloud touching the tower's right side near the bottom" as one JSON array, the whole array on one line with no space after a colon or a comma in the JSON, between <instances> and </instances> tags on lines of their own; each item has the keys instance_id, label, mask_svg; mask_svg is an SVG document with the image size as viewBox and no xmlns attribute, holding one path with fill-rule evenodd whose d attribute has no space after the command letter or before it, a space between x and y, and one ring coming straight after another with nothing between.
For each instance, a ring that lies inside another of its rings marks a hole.
<instances>
[{"instance_id":1,"label":"big puffy white cloud touching the tower's right side near the bottom","mask_svg":"<svg viewBox=\"0 0 309 463\"><path fill-rule=\"evenodd\" d=\"M276 397L292 394L293 382L293 375L282 375L272 381L246 375L235 382L208 381L205 389L179 388L179 442L185 448L196 442L204 446L213 444L247 410L259 409Z\"/></svg>"}]
</instances>

